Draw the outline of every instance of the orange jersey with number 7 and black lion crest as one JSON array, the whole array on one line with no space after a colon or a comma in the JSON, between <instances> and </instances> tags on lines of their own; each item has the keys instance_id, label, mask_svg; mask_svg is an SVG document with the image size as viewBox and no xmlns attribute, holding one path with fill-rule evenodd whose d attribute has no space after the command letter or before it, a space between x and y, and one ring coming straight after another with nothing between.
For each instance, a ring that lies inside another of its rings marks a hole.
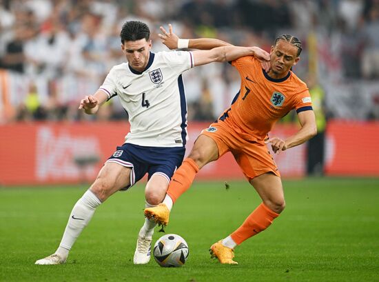
<instances>
[{"instance_id":1,"label":"orange jersey with number 7 and black lion crest","mask_svg":"<svg viewBox=\"0 0 379 282\"><path fill-rule=\"evenodd\" d=\"M232 61L241 77L240 91L219 118L246 140L263 140L278 119L289 111L312 110L307 85L294 72L272 79L255 57Z\"/></svg>"}]
</instances>

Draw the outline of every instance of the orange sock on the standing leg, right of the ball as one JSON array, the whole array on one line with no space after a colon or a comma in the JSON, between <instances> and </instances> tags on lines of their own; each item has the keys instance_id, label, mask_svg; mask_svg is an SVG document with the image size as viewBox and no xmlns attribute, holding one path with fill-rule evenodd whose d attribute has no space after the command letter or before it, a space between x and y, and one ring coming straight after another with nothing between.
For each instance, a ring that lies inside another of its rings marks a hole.
<instances>
[{"instance_id":1,"label":"orange sock on the standing leg, right of the ball","mask_svg":"<svg viewBox=\"0 0 379 282\"><path fill-rule=\"evenodd\" d=\"M267 208L264 203L261 203L230 236L237 245L240 245L246 239L268 228L278 216L279 214Z\"/></svg>"}]
</instances>

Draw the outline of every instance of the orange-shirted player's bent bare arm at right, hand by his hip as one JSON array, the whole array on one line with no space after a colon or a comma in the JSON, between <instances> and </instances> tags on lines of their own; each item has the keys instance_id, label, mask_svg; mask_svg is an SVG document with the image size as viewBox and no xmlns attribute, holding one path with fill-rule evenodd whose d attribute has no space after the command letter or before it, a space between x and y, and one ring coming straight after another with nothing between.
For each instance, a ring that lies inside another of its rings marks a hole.
<instances>
[{"instance_id":1,"label":"orange-shirted player's bent bare arm at right, hand by his hip","mask_svg":"<svg viewBox=\"0 0 379 282\"><path fill-rule=\"evenodd\" d=\"M265 143L271 143L274 153L279 154L281 151L303 144L317 134L316 119L313 110L299 112L298 120L301 128L296 134L291 135L285 140L273 137L265 141Z\"/></svg>"}]
</instances>

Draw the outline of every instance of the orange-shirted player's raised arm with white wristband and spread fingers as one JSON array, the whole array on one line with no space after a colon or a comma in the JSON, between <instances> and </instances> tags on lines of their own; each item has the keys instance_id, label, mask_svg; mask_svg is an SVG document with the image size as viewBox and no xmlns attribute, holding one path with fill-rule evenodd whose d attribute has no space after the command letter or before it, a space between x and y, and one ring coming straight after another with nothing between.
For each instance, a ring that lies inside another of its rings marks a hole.
<instances>
[{"instance_id":1,"label":"orange-shirted player's raised arm with white wristband and spread fingers","mask_svg":"<svg viewBox=\"0 0 379 282\"><path fill-rule=\"evenodd\" d=\"M199 39L180 39L174 32L172 32L172 25L169 23L167 32L163 26L161 26L161 34L158 37L162 43L165 44L170 50L176 48L191 48L198 50L211 50L221 46L232 46L232 44L225 41L213 38L199 38Z\"/></svg>"}]
</instances>

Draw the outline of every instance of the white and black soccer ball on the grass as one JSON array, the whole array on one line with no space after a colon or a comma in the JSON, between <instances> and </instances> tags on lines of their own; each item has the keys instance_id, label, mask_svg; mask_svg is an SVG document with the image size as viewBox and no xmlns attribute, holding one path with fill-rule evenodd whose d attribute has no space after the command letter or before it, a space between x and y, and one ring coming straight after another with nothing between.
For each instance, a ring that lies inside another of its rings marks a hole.
<instances>
[{"instance_id":1,"label":"white and black soccer ball on the grass","mask_svg":"<svg viewBox=\"0 0 379 282\"><path fill-rule=\"evenodd\" d=\"M163 268L182 266L187 261L189 250L185 239L176 234L161 236L154 245L154 259Z\"/></svg>"}]
</instances>

